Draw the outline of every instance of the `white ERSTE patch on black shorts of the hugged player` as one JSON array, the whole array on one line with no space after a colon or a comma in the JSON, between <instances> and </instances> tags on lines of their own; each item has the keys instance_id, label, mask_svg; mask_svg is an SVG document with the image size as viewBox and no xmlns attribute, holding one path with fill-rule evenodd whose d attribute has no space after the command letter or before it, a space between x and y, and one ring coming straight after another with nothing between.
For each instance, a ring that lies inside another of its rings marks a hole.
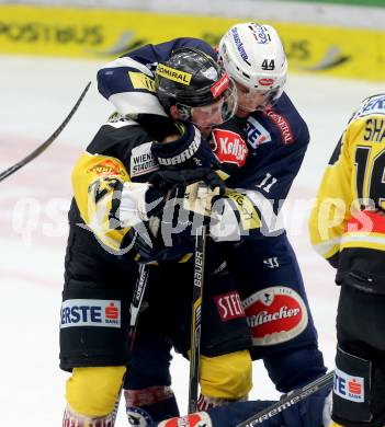
<instances>
[{"instance_id":1,"label":"white ERSTE patch on black shorts of the hugged player","mask_svg":"<svg viewBox=\"0 0 385 427\"><path fill-rule=\"evenodd\" d=\"M121 327L121 301L75 299L64 301L60 328L73 326Z\"/></svg>"}]
</instances>

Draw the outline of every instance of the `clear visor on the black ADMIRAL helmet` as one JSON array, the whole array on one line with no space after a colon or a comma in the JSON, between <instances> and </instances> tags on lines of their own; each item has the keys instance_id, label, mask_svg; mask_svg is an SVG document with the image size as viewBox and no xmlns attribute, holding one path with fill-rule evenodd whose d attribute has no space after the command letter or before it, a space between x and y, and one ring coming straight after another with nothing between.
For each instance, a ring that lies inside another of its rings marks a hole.
<instances>
[{"instance_id":1,"label":"clear visor on the black ADMIRAL helmet","mask_svg":"<svg viewBox=\"0 0 385 427\"><path fill-rule=\"evenodd\" d=\"M192 122L197 127L213 127L229 120L237 111L237 88L230 79L226 90L217 101L202 106L175 104L181 119Z\"/></svg>"}]
</instances>

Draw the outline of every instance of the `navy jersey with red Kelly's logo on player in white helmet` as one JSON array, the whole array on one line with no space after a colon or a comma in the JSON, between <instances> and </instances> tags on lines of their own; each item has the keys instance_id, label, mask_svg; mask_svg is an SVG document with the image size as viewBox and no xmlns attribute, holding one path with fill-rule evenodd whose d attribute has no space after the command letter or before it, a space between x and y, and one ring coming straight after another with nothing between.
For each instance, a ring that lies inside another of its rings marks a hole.
<instances>
[{"instance_id":1,"label":"navy jersey with red Kelly's logo on player in white helmet","mask_svg":"<svg viewBox=\"0 0 385 427\"><path fill-rule=\"evenodd\" d=\"M122 115L166 115L155 94L154 72L158 62L169 59L179 47L199 48L216 58L216 51L196 38L146 45L103 67L98 72L99 91ZM274 106L251 113L247 120L230 119L213 135L213 150L230 175L227 186L258 192L272 200L276 212L309 142L306 123L287 94L283 93Z\"/></svg>"}]
</instances>

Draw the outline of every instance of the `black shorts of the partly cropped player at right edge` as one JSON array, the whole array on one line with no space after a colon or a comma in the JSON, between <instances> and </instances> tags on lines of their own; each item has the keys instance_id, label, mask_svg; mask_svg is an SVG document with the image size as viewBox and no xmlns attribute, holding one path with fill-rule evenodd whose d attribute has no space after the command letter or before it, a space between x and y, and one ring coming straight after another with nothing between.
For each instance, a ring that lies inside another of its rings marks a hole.
<instances>
[{"instance_id":1,"label":"black shorts of the partly cropped player at right edge","mask_svg":"<svg viewBox=\"0 0 385 427\"><path fill-rule=\"evenodd\" d=\"M385 425L385 296L346 275L337 315L332 417L343 426ZM376 286L378 286L380 281ZM385 280L383 280L385 286Z\"/></svg>"}]
</instances>

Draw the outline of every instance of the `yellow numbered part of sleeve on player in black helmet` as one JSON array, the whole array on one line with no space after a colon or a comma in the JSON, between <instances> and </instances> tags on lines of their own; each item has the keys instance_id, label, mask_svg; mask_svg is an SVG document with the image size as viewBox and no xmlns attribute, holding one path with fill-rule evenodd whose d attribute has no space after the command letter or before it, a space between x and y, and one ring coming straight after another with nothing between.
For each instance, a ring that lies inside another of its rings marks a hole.
<instances>
[{"instance_id":1,"label":"yellow numbered part of sleeve on player in black helmet","mask_svg":"<svg viewBox=\"0 0 385 427\"><path fill-rule=\"evenodd\" d=\"M84 152L72 172L72 187L80 216L95 236L113 251L122 250L129 228L116 218L118 195L129 182L124 164L116 158Z\"/></svg>"}]
</instances>

